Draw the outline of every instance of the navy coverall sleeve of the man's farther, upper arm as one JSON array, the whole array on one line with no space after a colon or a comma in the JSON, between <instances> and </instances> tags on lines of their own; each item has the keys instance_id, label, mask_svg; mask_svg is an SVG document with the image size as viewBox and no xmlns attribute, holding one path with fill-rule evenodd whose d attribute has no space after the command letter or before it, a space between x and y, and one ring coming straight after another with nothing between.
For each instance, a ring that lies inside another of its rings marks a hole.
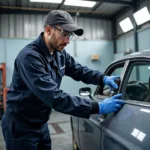
<instances>
[{"instance_id":1,"label":"navy coverall sleeve of the man's farther, upper arm","mask_svg":"<svg viewBox=\"0 0 150 150\"><path fill-rule=\"evenodd\" d=\"M102 72L82 66L68 53L66 53L66 75L86 84L103 85L104 75Z\"/></svg>"}]
</instances>

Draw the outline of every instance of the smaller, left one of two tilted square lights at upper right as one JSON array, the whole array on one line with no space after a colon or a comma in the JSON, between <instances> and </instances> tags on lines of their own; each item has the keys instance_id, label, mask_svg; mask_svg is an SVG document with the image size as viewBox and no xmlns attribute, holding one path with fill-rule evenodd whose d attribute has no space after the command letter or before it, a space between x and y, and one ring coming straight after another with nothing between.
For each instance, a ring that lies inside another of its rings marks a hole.
<instances>
[{"instance_id":1,"label":"smaller, left one of two tilted square lights at upper right","mask_svg":"<svg viewBox=\"0 0 150 150\"><path fill-rule=\"evenodd\" d=\"M119 22L119 24L123 32L128 32L133 29L133 24L129 17Z\"/></svg>"}]
</instances>

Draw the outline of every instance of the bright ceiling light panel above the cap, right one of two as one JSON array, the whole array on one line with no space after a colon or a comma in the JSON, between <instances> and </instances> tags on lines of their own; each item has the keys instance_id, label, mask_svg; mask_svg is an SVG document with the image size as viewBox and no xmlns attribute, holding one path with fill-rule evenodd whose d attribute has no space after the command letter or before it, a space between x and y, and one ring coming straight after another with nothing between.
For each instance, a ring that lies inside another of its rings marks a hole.
<instances>
[{"instance_id":1,"label":"bright ceiling light panel above the cap, right one of two","mask_svg":"<svg viewBox=\"0 0 150 150\"><path fill-rule=\"evenodd\" d=\"M66 0L64 5L79 6L79 7L93 7L96 2L82 1L82 0Z\"/></svg>"}]
</instances>

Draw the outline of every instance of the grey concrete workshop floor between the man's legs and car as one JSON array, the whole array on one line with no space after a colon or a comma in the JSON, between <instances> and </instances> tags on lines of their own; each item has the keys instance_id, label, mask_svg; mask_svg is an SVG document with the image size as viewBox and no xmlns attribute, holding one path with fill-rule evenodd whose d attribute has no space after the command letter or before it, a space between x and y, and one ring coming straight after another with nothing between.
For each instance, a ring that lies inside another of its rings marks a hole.
<instances>
[{"instance_id":1,"label":"grey concrete workshop floor between the man's legs and car","mask_svg":"<svg viewBox=\"0 0 150 150\"><path fill-rule=\"evenodd\" d=\"M48 124L52 138L52 150L72 150L70 116L53 111ZM0 150L6 150L1 127Z\"/></svg>"}]
</instances>

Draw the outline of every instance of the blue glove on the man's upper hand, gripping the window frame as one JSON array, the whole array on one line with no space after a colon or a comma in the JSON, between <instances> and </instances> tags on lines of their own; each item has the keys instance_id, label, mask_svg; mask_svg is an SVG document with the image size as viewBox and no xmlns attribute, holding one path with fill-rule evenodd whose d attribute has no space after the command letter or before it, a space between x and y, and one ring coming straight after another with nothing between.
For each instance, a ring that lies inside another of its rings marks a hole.
<instances>
[{"instance_id":1,"label":"blue glove on the man's upper hand, gripping the window frame","mask_svg":"<svg viewBox=\"0 0 150 150\"><path fill-rule=\"evenodd\" d=\"M110 86L111 88L118 89L118 85L114 82L117 78L120 79L120 76L105 76L103 79L103 83Z\"/></svg>"}]
</instances>

